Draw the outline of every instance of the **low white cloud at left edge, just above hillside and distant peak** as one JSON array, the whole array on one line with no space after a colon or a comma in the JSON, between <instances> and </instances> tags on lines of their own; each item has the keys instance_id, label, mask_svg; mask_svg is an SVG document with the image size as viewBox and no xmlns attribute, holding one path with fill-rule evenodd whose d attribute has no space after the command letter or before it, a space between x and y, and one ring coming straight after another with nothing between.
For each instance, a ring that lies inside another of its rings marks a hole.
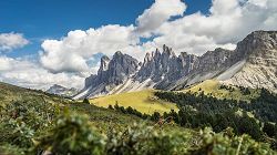
<instances>
[{"instance_id":1,"label":"low white cloud at left edge, just above hillside and distant peak","mask_svg":"<svg viewBox=\"0 0 277 155\"><path fill-rule=\"evenodd\" d=\"M68 87L83 86L84 78L76 74L53 74L24 59L0 56L0 81L31 89L48 89L53 84Z\"/></svg>"}]
</instances>

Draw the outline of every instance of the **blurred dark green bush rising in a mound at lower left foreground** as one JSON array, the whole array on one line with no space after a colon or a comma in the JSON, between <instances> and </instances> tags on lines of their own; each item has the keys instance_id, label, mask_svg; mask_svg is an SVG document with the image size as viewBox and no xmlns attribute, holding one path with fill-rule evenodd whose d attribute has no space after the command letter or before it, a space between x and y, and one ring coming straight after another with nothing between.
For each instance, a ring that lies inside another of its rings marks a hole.
<instances>
[{"instance_id":1,"label":"blurred dark green bush rising in a mound at lower left foreground","mask_svg":"<svg viewBox=\"0 0 277 155\"><path fill-rule=\"evenodd\" d=\"M61 115L49 135L42 137L37 149L55 154L101 155L104 149L104 137L96 133L84 115Z\"/></svg>"}]
</instances>

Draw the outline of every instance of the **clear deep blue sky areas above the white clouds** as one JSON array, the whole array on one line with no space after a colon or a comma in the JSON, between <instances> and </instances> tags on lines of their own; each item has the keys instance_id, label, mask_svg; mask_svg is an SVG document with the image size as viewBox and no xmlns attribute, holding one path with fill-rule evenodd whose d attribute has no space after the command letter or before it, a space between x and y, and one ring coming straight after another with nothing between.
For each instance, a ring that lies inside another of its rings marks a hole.
<instances>
[{"instance_id":1,"label":"clear deep blue sky areas above the white clouds","mask_svg":"<svg viewBox=\"0 0 277 155\"><path fill-rule=\"evenodd\" d=\"M35 54L44 39L60 39L71 30L105 24L134 24L154 0L2 0L0 33L23 33L30 41L7 55ZM186 14L208 13L211 0L186 0Z\"/></svg>"}]
</instances>

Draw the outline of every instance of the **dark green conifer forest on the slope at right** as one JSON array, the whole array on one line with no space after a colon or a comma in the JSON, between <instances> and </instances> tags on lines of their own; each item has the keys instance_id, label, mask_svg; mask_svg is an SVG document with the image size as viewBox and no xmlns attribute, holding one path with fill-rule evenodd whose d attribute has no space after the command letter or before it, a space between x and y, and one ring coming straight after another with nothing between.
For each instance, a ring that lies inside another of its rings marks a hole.
<instances>
[{"instance_id":1,"label":"dark green conifer forest on the slope at right","mask_svg":"<svg viewBox=\"0 0 277 155\"><path fill-rule=\"evenodd\" d=\"M246 94L248 91L243 89ZM220 100L207 96L204 92L175 93L156 92L161 100L176 103L178 112L163 114L173 116L181 126L202 128L211 126L215 132L226 127L234 128L236 134L249 134L255 140L266 141L275 138L273 147L277 147L277 95L261 89L260 96L250 102L236 100ZM254 115L254 116L252 116Z\"/></svg>"}]
</instances>

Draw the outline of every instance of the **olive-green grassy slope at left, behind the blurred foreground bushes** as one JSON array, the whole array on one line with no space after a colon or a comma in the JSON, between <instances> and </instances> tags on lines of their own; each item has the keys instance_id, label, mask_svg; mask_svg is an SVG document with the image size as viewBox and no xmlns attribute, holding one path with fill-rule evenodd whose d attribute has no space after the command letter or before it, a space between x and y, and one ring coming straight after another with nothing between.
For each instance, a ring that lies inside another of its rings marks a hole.
<instances>
[{"instance_id":1,"label":"olive-green grassy slope at left, behind the blurred foreground bushes","mask_svg":"<svg viewBox=\"0 0 277 155\"><path fill-rule=\"evenodd\" d=\"M113 124L127 126L132 123L141 121L141 118L134 115L125 115L90 104L75 103L64 97L48 94L42 91L29 90L7 83L0 83L0 110L1 107L4 108L6 106L13 104L14 102L20 102L25 104L25 106L32 104L58 106L75 113L86 114L90 117L91 123L95 124L100 130L106 130L109 125Z\"/></svg>"}]
</instances>

